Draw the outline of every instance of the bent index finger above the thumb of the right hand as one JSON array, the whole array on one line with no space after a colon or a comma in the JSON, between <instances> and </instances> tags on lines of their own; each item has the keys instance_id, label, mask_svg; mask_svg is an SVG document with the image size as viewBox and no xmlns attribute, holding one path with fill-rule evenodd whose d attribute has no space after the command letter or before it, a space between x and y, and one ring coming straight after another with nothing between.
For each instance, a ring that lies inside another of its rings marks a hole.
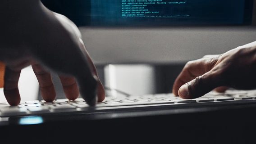
<instances>
[{"instance_id":1,"label":"bent index finger above the thumb of the right hand","mask_svg":"<svg viewBox=\"0 0 256 144\"><path fill-rule=\"evenodd\" d=\"M201 58L188 62L174 81L173 94L178 96L178 90L182 85L209 72L217 60L217 58Z\"/></svg>"}]
</instances>

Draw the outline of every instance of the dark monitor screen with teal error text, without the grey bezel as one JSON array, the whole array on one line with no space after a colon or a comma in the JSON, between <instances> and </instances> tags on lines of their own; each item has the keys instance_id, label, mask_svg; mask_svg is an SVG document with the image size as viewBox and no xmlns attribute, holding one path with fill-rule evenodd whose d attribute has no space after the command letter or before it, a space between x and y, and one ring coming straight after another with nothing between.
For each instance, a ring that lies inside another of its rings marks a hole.
<instances>
[{"instance_id":1,"label":"dark monitor screen with teal error text, without the grey bezel","mask_svg":"<svg viewBox=\"0 0 256 144\"><path fill-rule=\"evenodd\" d=\"M78 26L250 25L253 0L41 0Z\"/></svg>"}]
</instances>

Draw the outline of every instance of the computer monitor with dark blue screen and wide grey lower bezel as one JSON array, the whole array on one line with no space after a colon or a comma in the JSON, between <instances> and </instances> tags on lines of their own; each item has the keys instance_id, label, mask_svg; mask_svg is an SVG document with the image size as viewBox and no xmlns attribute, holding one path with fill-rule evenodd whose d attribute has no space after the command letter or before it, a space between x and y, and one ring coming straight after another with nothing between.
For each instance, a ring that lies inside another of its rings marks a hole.
<instances>
[{"instance_id":1,"label":"computer monitor with dark blue screen and wide grey lower bezel","mask_svg":"<svg viewBox=\"0 0 256 144\"><path fill-rule=\"evenodd\" d=\"M82 32L96 65L186 63L255 41L253 0L42 0Z\"/></svg>"}]
</instances>

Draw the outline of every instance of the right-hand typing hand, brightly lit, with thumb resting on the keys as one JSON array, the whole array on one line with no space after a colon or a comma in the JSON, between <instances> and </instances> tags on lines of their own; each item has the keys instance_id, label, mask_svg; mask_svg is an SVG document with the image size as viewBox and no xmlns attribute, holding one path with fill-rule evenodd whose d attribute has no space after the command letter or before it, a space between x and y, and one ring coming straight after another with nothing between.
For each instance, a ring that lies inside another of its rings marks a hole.
<instances>
[{"instance_id":1,"label":"right-hand typing hand, brightly lit, with thumb resting on the keys","mask_svg":"<svg viewBox=\"0 0 256 144\"><path fill-rule=\"evenodd\" d=\"M256 89L256 41L218 56L188 62L174 81L173 93L195 99L211 90Z\"/></svg>"}]
</instances>

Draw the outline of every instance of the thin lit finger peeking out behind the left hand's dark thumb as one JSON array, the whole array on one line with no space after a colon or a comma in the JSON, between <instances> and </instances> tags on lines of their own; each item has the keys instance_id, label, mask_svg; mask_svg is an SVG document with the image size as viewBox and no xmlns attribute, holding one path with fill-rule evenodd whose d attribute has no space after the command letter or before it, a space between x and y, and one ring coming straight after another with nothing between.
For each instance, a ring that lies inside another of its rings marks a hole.
<instances>
[{"instance_id":1,"label":"thin lit finger peeking out behind the left hand's dark thumb","mask_svg":"<svg viewBox=\"0 0 256 144\"><path fill-rule=\"evenodd\" d=\"M90 55L88 54L84 44L83 44L83 41L82 39L80 39L80 45L81 47L83 47L86 51L86 54L87 54L87 59L88 59L88 62L91 66L91 69L92 69L92 72L97 76L98 80L99 80L99 84L98 84L98 88L97 88L97 96L98 96L98 102L102 102L104 99L105 99L105 90L104 90L104 86L102 85L101 81L100 81L100 78L99 78L99 75L98 75L98 72L97 72L97 69L94 65L94 63L92 62L92 59L90 57Z\"/></svg>"}]
</instances>

